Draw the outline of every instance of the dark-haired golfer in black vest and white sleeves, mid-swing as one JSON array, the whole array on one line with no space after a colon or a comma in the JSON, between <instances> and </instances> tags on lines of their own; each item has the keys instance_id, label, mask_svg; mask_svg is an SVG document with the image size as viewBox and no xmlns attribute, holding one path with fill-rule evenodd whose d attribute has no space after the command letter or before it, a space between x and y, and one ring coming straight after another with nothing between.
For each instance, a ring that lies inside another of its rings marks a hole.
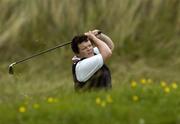
<instances>
[{"instance_id":1,"label":"dark-haired golfer in black vest and white sleeves, mid-swing","mask_svg":"<svg viewBox=\"0 0 180 124\"><path fill-rule=\"evenodd\" d=\"M112 40L99 30L93 30L75 36L71 48L75 54L72 58L75 90L110 89L111 72L105 62L112 55Z\"/></svg>"}]
</instances>

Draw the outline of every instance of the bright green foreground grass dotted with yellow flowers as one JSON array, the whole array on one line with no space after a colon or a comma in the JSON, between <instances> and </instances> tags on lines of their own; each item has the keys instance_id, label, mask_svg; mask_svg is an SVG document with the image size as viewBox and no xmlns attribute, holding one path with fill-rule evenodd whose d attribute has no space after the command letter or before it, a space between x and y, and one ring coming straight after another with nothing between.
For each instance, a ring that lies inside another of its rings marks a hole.
<instances>
[{"instance_id":1,"label":"bright green foreground grass dotted with yellow flowers","mask_svg":"<svg viewBox=\"0 0 180 124\"><path fill-rule=\"evenodd\" d=\"M71 82L70 80L64 82L68 81ZM23 93L23 90L19 89L13 97L8 97L7 94L4 99L1 97L3 101L0 103L0 122L14 124L180 122L178 82L165 82L165 86L161 81L151 78L133 81L118 85L117 81L110 91L84 93L75 93L67 85L39 93L33 91ZM17 88L18 82L14 83L17 85L13 88ZM173 84L177 84L177 87Z\"/></svg>"}]
</instances>

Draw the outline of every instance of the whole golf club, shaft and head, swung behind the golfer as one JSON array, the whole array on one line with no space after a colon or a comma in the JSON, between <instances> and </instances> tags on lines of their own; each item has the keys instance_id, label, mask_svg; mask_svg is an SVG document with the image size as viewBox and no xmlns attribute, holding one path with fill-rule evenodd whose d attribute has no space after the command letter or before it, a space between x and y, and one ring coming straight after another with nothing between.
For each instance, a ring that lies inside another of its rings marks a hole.
<instances>
[{"instance_id":1,"label":"whole golf club, shaft and head, swung behind the golfer","mask_svg":"<svg viewBox=\"0 0 180 124\"><path fill-rule=\"evenodd\" d=\"M26 57L26 58L24 58L24 59L22 59L22 60L19 60L19 61L16 61L16 62L11 63L11 64L9 65L9 74L14 74L14 70L13 70L13 66L14 66L14 65L19 64L19 63L22 63L22 62L24 62L24 61L27 61L27 60L29 60L29 59L31 59L31 58L34 58L34 57L39 56L39 55L42 55L42 54L44 54L44 53L50 52L50 51L55 50L55 49L57 49L57 48L66 46L66 45L68 45L68 44L70 44L70 43L71 43L71 42L67 42L67 43L64 43L64 44L60 44L60 45L55 46L55 47L53 47L53 48L44 50L44 51L39 52L39 53L37 53L37 54L34 54L34 55L32 55L32 56Z\"/></svg>"}]
</instances>

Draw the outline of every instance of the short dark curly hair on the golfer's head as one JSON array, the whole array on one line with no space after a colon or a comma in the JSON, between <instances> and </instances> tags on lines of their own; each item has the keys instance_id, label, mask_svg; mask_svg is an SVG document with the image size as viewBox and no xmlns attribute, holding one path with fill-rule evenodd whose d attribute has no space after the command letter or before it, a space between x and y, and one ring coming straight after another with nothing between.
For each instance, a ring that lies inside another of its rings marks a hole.
<instances>
[{"instance_id":1,"label":"short dark curly hair on the golfer's head","mask_svg":"<svg viewBox=\"0 0 180 124\"><path fill-rule=\"evenodd\" d=\"M86 35L77 35L72 39L71 42L71 49L73 50L74 53L79 53L79 48L78 45L81 44L82 42L87 42L88 37Z\"/></svg>"}]
</instances>

